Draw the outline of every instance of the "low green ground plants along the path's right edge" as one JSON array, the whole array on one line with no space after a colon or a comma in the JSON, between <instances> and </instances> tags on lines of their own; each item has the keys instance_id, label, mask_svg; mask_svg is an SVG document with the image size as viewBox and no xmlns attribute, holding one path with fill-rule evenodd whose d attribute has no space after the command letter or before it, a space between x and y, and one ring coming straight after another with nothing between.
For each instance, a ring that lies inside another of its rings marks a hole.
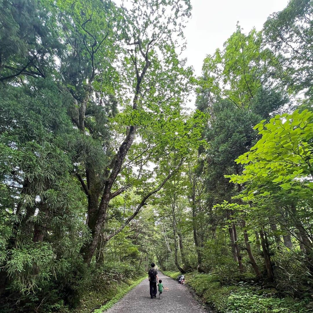
<instances>
[{"instance_id":1,"label":"low green ground plants along the path's right edge","mask_svg":"<svg viewBox=\"0 0 313 313\"><path fill-rule=\"evenodd\" d=\"M163 271L176 279L180 272ZM185 275L187 284L219 313L306 313L313 310L313 297L297 299L281 297L274 288L266 289L253 281L222 284L216 275Z\"/></svg>"}]
</instances>

